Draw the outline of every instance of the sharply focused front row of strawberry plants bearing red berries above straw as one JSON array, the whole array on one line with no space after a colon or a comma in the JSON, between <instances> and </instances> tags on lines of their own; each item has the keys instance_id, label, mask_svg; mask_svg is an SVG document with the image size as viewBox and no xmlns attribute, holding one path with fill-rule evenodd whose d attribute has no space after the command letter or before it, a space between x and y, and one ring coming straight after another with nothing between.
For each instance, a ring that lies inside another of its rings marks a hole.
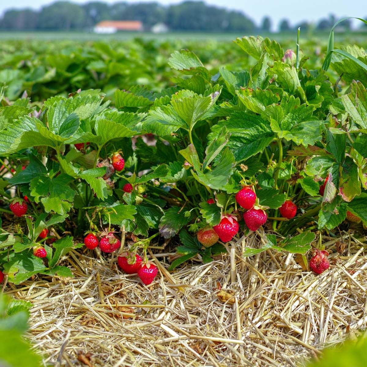
<instances>
[{"instance_id":1,"label":"sharply focused front row of strawberry plants bearing red berries above straw","mask_svg":"<svg viewBox=\"0 0 367 367\"><path fill-rule=\"evenodd\" d=\"M211 261L252 231L261 246L243 256L272 248L307 263L313 245L310 266L328 267L321 233L346 218L367 224L367 83L333 85L269 39L235 43L256 60L250 70L211 75L193 52L176 51L176 86L117 90L113 107L99 90L40 108L28 97L3 103L0 264L9 281L71 276L59 262L84 232L99 255L120 249L125 271L138 264L145 284L157 273L150 242L177 235L170 269ZM352 61L338 55L331 67L348 76Z\"/></svg>"}]
</instances>

